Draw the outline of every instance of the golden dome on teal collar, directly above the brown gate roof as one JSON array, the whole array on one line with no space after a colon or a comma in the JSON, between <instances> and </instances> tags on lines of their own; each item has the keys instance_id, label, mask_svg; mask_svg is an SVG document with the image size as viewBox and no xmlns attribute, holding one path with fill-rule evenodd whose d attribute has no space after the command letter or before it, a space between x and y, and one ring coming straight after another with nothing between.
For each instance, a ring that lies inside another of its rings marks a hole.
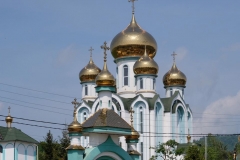
<instances>
[{"instance_id":1,"label":"golden dome on teal collar, directly above the brown gate roof","mask_svg":"<svg viewBox=\"0 0 240 160\"><path fill-rule=\"evenodd\" d=\"M108 71L106 60L104 60L103 69L97 75L95 82L96 82L97 86L115 86L115 78Z\"/></svg>"}]
</instances>

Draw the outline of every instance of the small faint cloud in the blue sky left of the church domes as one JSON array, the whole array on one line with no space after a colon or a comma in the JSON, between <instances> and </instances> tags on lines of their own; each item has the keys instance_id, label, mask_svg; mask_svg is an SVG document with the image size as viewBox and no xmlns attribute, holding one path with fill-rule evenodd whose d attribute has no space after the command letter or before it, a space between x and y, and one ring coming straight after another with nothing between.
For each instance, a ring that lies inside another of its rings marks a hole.
<instances>
[{"instance_id":1,"label":"small faint cloud in the blue sky left of the church domes","mask_svg":"<svg viewBox=\"0 0 240 160\"><path fill-rule=\"evenodd\" d=\"M77 51L74 49L74 45L70 45L58 53L57 64L64 65L74 59Z\"/></svg>"}]
</instances>

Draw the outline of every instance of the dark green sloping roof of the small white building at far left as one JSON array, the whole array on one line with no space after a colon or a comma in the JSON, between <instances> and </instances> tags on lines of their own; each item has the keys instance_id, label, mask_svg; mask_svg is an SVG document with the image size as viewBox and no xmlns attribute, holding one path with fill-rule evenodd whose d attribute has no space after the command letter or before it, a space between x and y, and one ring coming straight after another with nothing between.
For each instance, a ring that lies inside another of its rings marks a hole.
<instances>
[{"instance_id":1,"label":"dark green sloping roof of the small white building at far left","mask_svg":"<svg viewBox=\"0 0 240 160\"><path fill-rule=\"evenodd\" d=\"M23 133L20 129L17 129L15 127L8 128L0 126L0 142L9 141L38 143L38 141Z\"/></svg>"}]
</instances>

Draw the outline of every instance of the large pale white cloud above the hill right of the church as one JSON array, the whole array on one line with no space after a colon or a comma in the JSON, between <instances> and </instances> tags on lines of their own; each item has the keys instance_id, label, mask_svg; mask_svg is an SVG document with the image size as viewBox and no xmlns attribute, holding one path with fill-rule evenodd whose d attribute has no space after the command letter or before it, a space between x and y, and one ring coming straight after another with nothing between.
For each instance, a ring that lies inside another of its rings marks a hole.
<instances>
[{"instance_id":1,"label":"large pale white cloud above the hill right of the church","mask_svg":"<svg viewBox=\"0 0 240 160\"><path fill-rule=\"evenodd\" d=\"M202 118L194 122L195 133L238 133L240 91L208 105Z\"/></svg>"}]
</instances>

